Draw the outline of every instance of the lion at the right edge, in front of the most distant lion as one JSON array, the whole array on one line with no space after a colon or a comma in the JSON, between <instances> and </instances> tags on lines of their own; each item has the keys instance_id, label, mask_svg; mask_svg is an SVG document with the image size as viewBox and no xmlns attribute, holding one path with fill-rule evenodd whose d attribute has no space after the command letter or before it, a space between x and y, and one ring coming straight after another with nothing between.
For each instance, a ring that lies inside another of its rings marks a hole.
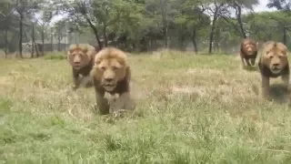
<instances>
[{"instance_id":1,"label":"lion at the right edge, in front of the most distant lion","mask_svg":"<svg viewBox=\"0 0 291 164\"><path fill-rule=\"evenodd\" d=\"M282 77L286 91L289 90L289 62L287 47L283 43L268 41L263 45L258 67L262 76L262 94L268 97L270 77Z\"/></svg>"}]
</instances>

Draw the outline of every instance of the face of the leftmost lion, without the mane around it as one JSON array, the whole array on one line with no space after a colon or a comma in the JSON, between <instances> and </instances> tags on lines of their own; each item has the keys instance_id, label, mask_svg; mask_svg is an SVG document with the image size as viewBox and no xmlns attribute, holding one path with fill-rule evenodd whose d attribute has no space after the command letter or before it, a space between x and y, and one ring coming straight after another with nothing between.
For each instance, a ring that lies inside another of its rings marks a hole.
<instances>
[{"instance_id":1,"label":"face of the leftmost lion, without the mane around it","mask_svg":"<svg viewBox=\"0 0 291 164\"><path fill-rule=\"evenodd\" d=\"M67 58L70 65L75 69L81 69L82 67L87 66L90 63L91 58L86 53L86 47L75 46L69 49Z\"/></svg>"}]
</instances>

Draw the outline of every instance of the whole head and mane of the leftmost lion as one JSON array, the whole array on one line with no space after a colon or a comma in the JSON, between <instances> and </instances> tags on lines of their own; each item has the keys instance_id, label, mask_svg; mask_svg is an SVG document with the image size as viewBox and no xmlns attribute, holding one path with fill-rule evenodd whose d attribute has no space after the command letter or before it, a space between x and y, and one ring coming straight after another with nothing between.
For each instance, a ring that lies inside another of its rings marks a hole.
<instances>
[{"instance_id":1,"label":"whole head and mane of the leftmost lion","mask_svg":"<svg viewBox=\"0 0 291 164\"><path fill-rule=\"evenodd\" d=\"M67 59L72 67L81 69L82 67L92 64L95 54L95 47L86 44L73 44L69 46Z\"/></svg>"}]
</instances>

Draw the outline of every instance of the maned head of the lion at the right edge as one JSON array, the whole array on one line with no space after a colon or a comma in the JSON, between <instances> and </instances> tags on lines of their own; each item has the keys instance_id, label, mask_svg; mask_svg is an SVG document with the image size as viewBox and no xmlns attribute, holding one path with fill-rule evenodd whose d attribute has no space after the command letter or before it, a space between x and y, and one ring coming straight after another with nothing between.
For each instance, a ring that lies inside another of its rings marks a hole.
<instances>
[{"instance_id":1,"label":"maned head of the lion at the right edge","mask_svg":"<svg viewBox=\"0 0 291 164\"><path fill-rule=\"evenodd\" d=\"M280 42L267 42L262 51L262 62L274 74L280 73L287 65L287 47Z\"/></svg>"}]
</instances>

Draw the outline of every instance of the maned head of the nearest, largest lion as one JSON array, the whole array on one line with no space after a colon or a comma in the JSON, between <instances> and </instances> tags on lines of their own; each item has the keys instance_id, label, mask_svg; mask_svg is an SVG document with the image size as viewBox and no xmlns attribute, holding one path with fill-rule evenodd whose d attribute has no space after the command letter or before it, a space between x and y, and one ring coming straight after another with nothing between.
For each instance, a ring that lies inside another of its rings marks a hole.
<instances>
[{"instance_id":1,"label":"maned head of the nearest, largest lion","mask_svg":"<svg viewBox=\"0 0 291 164\"><path fill-rule=\"evenodd\" d=\"M130 68L127 56L115 47L106 47L95 57L94 77L106 91L113 91L118 82L129 78Z\"/></svg>"}]
</instances>

